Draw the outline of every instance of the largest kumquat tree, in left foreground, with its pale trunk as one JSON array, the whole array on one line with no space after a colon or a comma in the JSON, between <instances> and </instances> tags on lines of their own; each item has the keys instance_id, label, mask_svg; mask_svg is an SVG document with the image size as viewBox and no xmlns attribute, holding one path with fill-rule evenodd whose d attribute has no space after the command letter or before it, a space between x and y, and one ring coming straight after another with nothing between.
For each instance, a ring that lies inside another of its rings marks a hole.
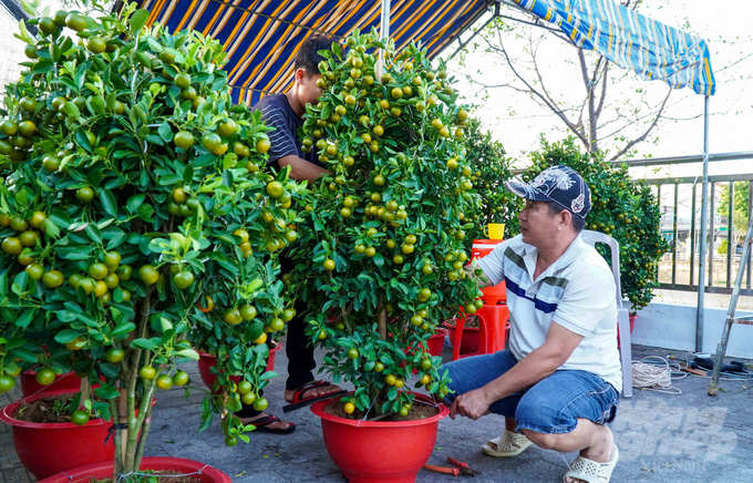
<instances>
[{"instance_id":1,"label":"largest kumquat tree, in left foreground, with its pale trunk","mask_svg":"<svg viewBox=\"0 0 753 483\"><path fill-rule=\"evenodd\" d=\"M276 256L301 188L265 171L268 129L231 104L217 41L90 4L28 22L39 34L22 29L29 61L0 110L0 389L75 370L72 420L120 422L127 475L155 389L186 384L176 362L198 346L221 387L203 428L220 412L248 440L227 415L274 376L266 333L291 306Z\"/></svg>"}]
</instances>

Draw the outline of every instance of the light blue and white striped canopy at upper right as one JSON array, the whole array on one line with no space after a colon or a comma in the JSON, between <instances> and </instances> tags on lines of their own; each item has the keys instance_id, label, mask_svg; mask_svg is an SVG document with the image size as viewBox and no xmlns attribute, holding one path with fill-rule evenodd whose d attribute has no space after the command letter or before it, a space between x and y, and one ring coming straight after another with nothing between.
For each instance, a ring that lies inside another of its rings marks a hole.
<instances>
[{"instance_id":1,"label":"light blue and white striped canopy at upper right","mask_svg":"<svg viewBox=\"0 0 753 483\"><path fill-rule=\"evenodd\" d=\"M612 0L513 0L556 24L573 42L595 50L646 80L698 94L716 90L705 41L641 16Z\"/></svg>"}]
</instances>

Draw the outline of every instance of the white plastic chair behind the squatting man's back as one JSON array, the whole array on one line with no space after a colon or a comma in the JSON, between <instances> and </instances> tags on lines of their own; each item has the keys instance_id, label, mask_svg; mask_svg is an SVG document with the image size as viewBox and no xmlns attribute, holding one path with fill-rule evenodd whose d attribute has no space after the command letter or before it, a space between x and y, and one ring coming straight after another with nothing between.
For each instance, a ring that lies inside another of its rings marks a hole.
<instances>
[{"instance_id":1,"label":"white plastic chair behind the squatting man's back","mask_svg":"<svg viewBox=\"0 0 753 483\"><path fill-rule=\"evenodd\" d=\"M584 229L580 238L588 245L596 247L597 243L609 246L612 255L612 275L615 276L615 287L617 288L617 323L620 328L620 357L622 359L622 397L632 397L632 352L630 347L630 315L628 309L622 306L622 287L620 286L620 244L609 235L599 232Z\"/></svg>"}]
</instances>

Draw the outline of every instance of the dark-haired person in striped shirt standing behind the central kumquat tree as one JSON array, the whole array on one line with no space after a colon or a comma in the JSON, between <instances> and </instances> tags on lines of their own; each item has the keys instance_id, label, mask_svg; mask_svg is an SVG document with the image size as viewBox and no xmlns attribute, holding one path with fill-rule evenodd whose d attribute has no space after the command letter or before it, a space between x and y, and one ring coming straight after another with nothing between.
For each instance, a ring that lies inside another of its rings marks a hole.
<instances>
[{"instance_id":1,"label":"dark-haired person in striped shirt standing behind the central kumquat tree","mask_svg":"<svg viewBox=\"0 0 753 483\"><path fill-rule=\"evenodd\" d=\"M272 94L261 97L254 109L261 111L265 124L274 127L268 133L270 147L268 164L276 171L290 166L290 177L296 181L307 181L309 184L329 173L317 160L314 150L303 153L298 137L298 129L303 126L306 105L316 103L321 95L317 81L321 78L319 62L324 60L318 52L330 50L332 41L314 35L307 39L299 47L293 64L293 86L285 94ZM282 255L282 273L292 268L292 263ZM296 311L302 314L306 306L296 305ZM318 400L342 393L340 388L327 381L316 381L313 369L313 346L306 337L306 320L296 316L288 322L288 339L286 345L288 356L288 380L286 382L285 400L298 409ZM290 405L286 407L289 409ZM279 420L277 417L254 411L245 407L236 413L244 424L255 424L262 431L290 433L296 425Z\"/></svg>"}]
</instances>

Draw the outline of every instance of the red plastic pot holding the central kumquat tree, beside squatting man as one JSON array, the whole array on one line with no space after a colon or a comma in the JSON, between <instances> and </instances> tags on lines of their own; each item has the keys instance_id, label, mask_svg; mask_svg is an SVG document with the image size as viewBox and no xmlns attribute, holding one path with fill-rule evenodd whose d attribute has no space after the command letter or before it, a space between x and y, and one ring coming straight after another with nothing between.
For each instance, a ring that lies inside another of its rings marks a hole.
<instances>
[{"instance_id":1,"label":"red plastic pot holding the central kumquat tree, beside squatting man","mask_svg":"<svg viewBox=\"0 0 753 483\"><path fill-rule=\"evenodd\" d=\"M422 394L416 401L431 402ZM440 420L450 410L416 421L360 421L324 412L333 401L319 401L311 412L321 418L330 458L350 483L412 483L434 451ZM334 401L337 402L337 401Z\"/></svg>"}]
</instances>

